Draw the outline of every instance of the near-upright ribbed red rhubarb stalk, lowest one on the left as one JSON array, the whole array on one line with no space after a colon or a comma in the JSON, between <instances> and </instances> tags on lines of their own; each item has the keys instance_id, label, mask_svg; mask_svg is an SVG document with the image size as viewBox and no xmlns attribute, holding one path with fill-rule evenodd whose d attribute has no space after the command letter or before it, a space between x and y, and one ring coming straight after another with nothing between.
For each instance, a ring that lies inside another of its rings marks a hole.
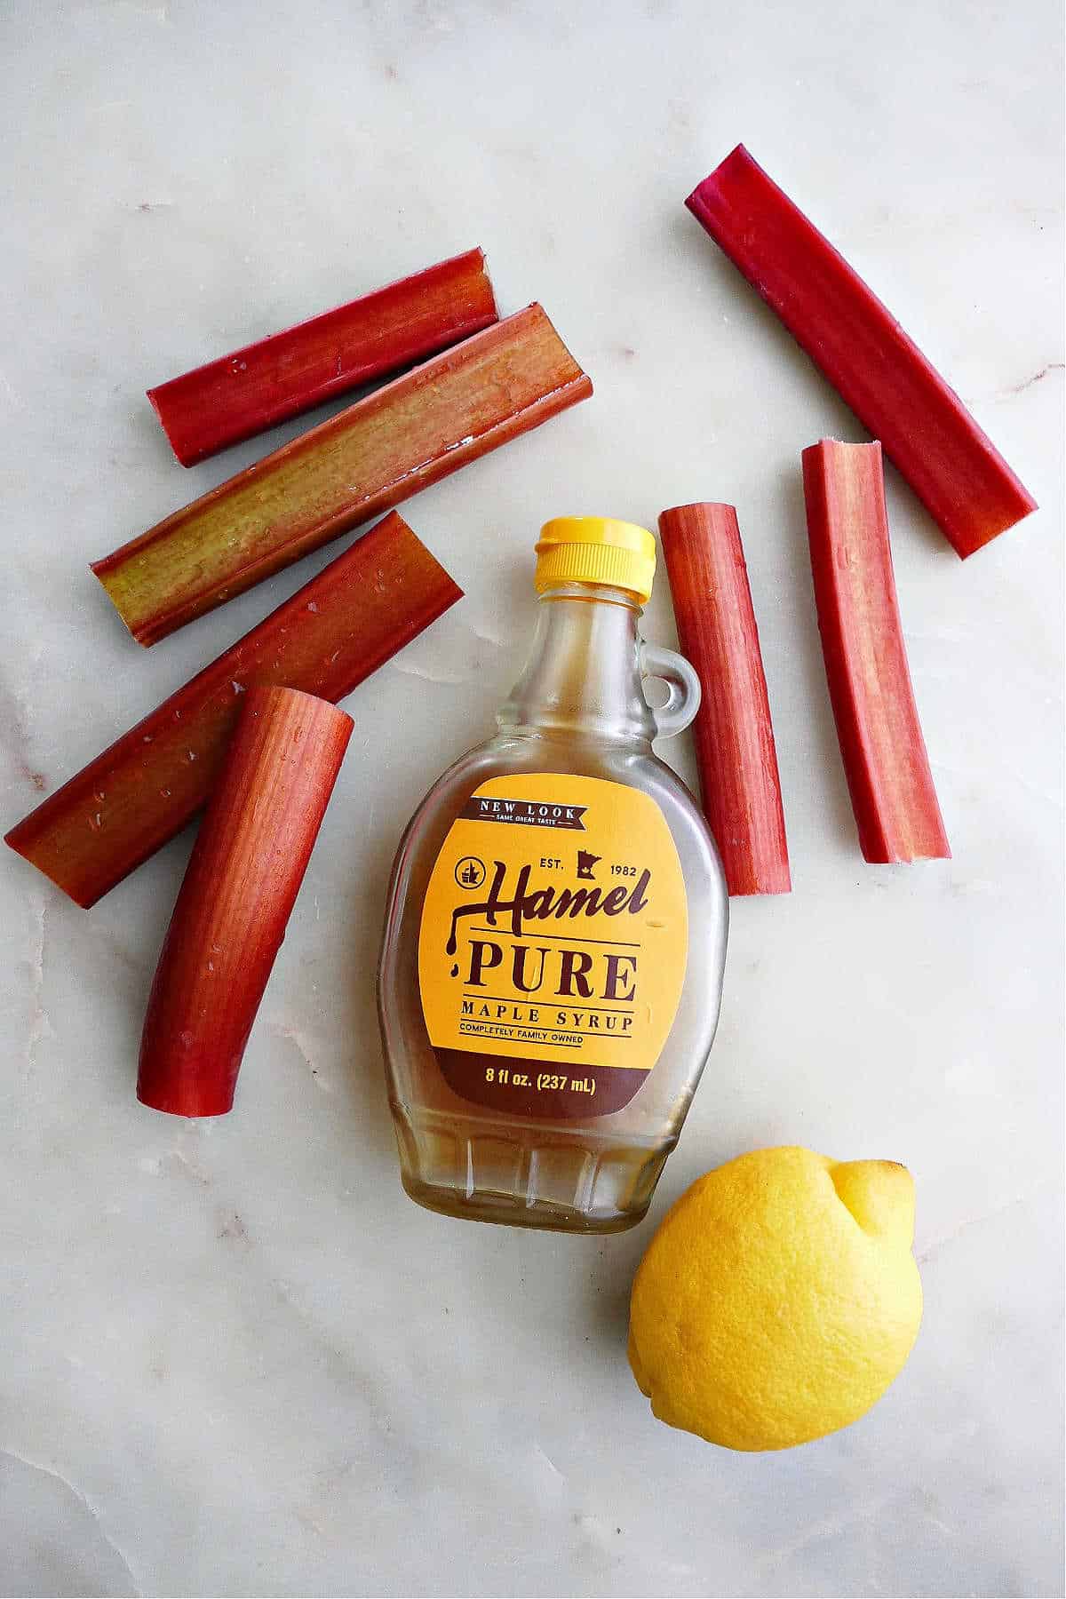
<instances>
[{"instance_id":1,"label":"near-upright ribbed red rhubarb stalk, lowest one on the left","mask_svg":"<svg viewBox=\"0 0 1066 1599\"><path fill-rule=\"evenodd\" d=\"M163 942L137 1099L224 1116L352 718L296 689L249 691Z\"/></svg>"}]
</instances>

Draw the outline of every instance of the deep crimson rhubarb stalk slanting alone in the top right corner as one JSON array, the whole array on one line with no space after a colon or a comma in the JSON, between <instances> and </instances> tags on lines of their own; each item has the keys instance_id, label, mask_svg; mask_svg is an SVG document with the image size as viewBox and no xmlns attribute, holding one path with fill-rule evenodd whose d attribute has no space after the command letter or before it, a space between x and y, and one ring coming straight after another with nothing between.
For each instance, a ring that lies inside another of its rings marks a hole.
<instances>
[{"instance_id":1,"label":"deep crimson rhubarb stalk slanting alone in the top right corner","mask_svg":"<svg viewBox=\"0 0 1066 1599\"><path fill-rule=\"evenodd\" d=\"M686 205L884 443L961 556L1036 510L957 393L743 144Z\"/></svg>"}]
</instances>

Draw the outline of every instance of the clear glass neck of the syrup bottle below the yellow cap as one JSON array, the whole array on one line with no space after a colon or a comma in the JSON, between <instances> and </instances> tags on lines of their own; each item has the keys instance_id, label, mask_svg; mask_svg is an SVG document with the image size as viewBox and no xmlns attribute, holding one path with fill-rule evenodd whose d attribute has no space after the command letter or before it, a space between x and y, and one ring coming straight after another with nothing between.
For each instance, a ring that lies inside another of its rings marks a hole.
<instances>
[{"instance_id":1,"label":"clear glass neck of the syrup bottle below the yellow cap","mask_svg":"<svg viewBox=\"0 0 1066 1599\"><path fill-rule=\"evenodd\" d=\"M540 595L526 670L502 707L502 732L579 734L650 744L641 686L641 606L623 588L559 584Z\"/></svg>"}]
</instances>

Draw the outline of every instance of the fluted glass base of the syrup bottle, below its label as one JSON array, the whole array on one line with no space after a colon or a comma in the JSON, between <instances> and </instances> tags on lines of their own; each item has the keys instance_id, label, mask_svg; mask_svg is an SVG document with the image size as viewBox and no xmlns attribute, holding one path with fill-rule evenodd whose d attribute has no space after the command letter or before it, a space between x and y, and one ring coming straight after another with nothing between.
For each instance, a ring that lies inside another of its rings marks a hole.
<instances>
[{"instance_id":1,"label":"fluted glass base of the syrup bottle, below its label","mask_svg":"<svg viewBox=\"0 0 1066 1599\"><path fill-rule=\"evenodd\" d=\"M623 1233L647 1214L673 1142L487 1122L393 1105L404 1191L427 1210L556 1233Z\"/></svg>"}]
</instances>

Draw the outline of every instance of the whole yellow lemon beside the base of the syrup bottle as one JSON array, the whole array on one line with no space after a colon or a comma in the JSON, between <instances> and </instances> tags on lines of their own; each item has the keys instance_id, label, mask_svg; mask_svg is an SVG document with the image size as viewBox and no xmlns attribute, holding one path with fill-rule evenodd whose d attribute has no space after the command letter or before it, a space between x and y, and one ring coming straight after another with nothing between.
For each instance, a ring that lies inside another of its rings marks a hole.
<instances>
[{"instance_id":1,"label":"whole yellow lemon beside the base of the syrup bottle","mask_svg":"<svg viewBox=\"0 0 1066 1599\"><path fill-rule=\"evenodd\" d=\"M630 1303L652 1412L727 1449L847 1426L903 1367L922 1319L914 1182L893 1161L742 1154L678 1199Z\"/></svg>"}]
</instances>

